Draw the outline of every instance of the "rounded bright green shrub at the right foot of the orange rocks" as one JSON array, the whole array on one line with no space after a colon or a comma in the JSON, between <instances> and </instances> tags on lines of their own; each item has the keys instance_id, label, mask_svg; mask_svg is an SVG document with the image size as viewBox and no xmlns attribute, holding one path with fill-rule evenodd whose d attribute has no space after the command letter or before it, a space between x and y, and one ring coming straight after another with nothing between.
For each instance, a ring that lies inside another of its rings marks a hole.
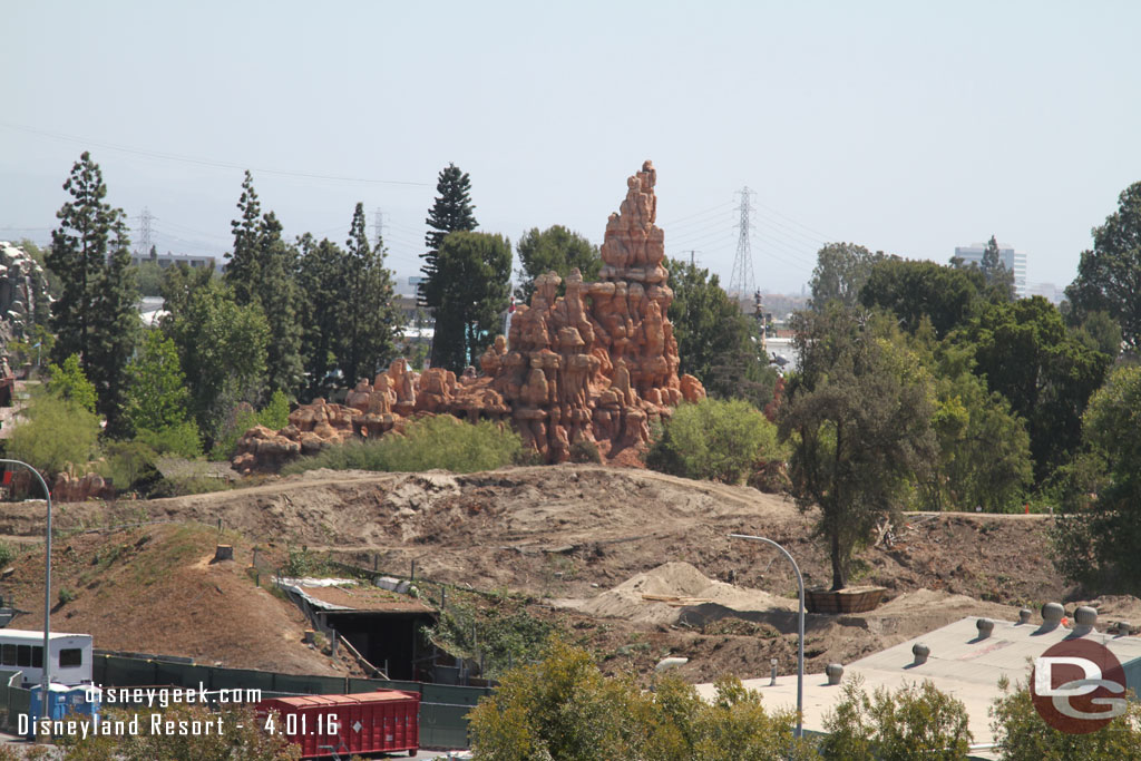
<instances>
[{"instance_id":1,"label":"rounded bright green shrub at the right foot of the orange rocks","mask_svg":"<svg viewBox=\"0 0 1141 761\"><path fill-rule=\"evenodd\" d=\"M739 399L683 404L646 455L654 470L737 484L759 460L783 459L777 429Z\"/></svg>"}]
</instances>

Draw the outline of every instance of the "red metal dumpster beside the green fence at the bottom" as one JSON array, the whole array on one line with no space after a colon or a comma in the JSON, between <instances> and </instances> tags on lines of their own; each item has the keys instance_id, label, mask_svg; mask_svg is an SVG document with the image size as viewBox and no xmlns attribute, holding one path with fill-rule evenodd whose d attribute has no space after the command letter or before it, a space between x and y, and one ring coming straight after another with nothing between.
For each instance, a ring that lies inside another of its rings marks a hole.
<instances>
[{"instance_id":1,"label":"red metal dumpster beside the green fence at the bottom","mask_svg":"<svg viewBox=\"0 0 1141 761\"><path fill-rule=\"evenodd\" d=\"M301 746L301 758L420 748L420 695L396 689L261 701L261 727ZM274 717L270 712L276 711Z\"/></svg>"}]
</instances>

